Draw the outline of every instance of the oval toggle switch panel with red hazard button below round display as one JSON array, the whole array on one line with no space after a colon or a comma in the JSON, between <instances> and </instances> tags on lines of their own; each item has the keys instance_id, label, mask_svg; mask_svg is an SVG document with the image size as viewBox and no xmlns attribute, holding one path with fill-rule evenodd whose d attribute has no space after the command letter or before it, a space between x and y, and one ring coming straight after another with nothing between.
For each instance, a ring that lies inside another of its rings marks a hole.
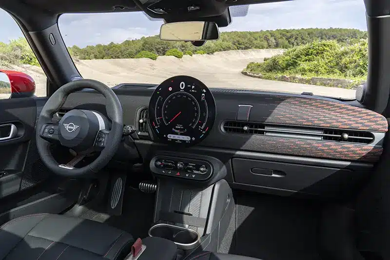
<instances>
[{"instance_id":1,"label":"oval toggle switch panel with red hazard button below round display","mask_svg":"<svg viewBox=\"0 0 390 260\"><path fill-rule=\"evenodd\" d=\"M208 180L213 174L213 166L208 161L176 157L156 156L150 168L157 175L198 181Z\"/></svg>"}]
</instances>

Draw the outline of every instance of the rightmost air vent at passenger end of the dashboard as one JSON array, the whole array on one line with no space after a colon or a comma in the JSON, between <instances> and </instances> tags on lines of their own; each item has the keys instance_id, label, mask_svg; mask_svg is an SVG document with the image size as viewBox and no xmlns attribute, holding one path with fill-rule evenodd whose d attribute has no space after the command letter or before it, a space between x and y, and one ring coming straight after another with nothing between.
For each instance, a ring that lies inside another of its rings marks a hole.
<instances>
[{"instance_id":1,"label":"rightmost air vent at passenger end of the dashboard","mask_svg":"<svg viewBox=\"0 0 390 260\"><path fill-rule=\"evenodd\" d=\"M370 132L324 129L322 140L369 144L374 136Z\"/></svg>"}]
</instances>

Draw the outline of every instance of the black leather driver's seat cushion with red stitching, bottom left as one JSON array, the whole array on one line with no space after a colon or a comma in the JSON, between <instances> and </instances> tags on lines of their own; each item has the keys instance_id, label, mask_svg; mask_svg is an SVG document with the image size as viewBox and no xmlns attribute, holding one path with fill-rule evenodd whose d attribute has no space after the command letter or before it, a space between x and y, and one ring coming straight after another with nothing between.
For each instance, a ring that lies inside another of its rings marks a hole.
<instances>
[{"instance_id":1,"label":"black leather driver's seat cushion with red stitching, bottom left","mask_svg":"<svg viewBox=\"0 0 390 260\"><path fill-rule=\"evenodd\" d=\"M123 260L134 243L117 228L51 214L5 223L0 241L0 260Z\"/></svg>"}]
</instances>

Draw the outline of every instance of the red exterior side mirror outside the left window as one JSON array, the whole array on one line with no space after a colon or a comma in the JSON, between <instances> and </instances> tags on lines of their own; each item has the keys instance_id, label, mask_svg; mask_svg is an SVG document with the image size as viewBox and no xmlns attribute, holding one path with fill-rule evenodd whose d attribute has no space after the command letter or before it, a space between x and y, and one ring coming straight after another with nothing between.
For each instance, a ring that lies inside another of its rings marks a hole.
<instances>
[{"instance_id":1,"label":"red exterior side mirror outside the left window","mask_svg":"<svg viewBox=\"0 0 390 260\"><path fill-rule=\"evenodd\" d=\"M0 99L32 97L35 81L29 75L13 70L0 70Z\"/></svg>"}]
</instances>

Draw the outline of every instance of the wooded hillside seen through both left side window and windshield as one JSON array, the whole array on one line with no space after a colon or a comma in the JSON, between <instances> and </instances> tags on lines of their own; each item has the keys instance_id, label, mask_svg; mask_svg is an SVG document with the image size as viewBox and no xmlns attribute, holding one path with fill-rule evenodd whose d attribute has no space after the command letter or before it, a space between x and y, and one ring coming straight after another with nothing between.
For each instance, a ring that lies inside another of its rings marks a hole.
<instances>
[{"instance_id":1,"label":"wooded hillside seen through both left side window and windshield","mask_svg":"<svg viewBox=\"0 0 390 260\"><path fill-rule=\"evenodd\" d=\"M319 40L336 40L341 45L351 45L367 39L367 32L356 29L280 29L260 32L222 32L219 40L195 47L189 42L159 40L158 36L125 40L122 43L97 44L80 48L68 47L73 60L133 59L174 55L213 54L228 50L289 49L294 46ZM177 49L173 50L173 49ZM9 64L39 65L29 44L24 38L0 42L0 67Z\"/></svg>"}]
</instances>

